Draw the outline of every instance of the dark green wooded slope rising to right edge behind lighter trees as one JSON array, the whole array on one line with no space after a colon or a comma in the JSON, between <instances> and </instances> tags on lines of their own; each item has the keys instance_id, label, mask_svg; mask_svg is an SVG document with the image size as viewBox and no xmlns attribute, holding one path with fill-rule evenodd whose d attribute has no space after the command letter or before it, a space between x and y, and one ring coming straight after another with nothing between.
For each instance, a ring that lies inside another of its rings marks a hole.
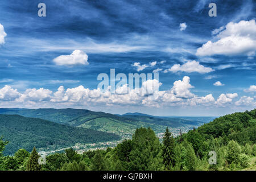
<instances>
[{"instance_id":1,"label":"dark green wooded slope rising to right edge behind lighter trees","mask_svg":"<svg viewBox=\"0 0 256 182\"><path fill-rule=\"evenodd\" d=\"M200 157L207 156L210 150L216 150L213 146L217 147L218 144L207 142L214 139L224 145L231 140L243 146L253 145L256 143L256 109L225 115L176 138L177 141L184 139L192 143Z\"/></svg>"}]
</instances>

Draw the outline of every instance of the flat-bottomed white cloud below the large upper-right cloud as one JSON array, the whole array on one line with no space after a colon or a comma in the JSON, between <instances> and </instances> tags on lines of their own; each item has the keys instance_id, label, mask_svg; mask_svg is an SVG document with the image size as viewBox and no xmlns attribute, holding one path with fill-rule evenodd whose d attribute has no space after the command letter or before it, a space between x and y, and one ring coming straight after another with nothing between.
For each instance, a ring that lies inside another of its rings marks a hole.
<instances>
[{"instance_id":1,"label":"flat-bottomed white cloud below the large upper-right cloud","mask_svg":"<svg viewBox=\"0 0 256 182\"><path fill-rule=\"evenodd\" d=\"M167 71L176 73L176 72L187 72L187 73L192 73L192 72L198 72L198 73L209 73L214 71L212 68L204 67L199 63L199 61L188 61L187 63L180 65L180 64L175 64L173 65L170 69Z\"/></svg>"}]
</instances>

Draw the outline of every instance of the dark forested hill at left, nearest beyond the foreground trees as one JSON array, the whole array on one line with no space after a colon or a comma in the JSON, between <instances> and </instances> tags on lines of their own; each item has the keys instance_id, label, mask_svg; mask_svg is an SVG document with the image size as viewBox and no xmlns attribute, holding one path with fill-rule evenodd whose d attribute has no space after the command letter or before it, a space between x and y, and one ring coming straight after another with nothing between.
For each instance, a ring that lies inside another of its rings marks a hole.
<instances>
[{"instance_id":1,"label":"dark forested hill at left, nearest beyond the foreground trees","mask_svg":"<svg viewBox=\"0 0 256 182\"><path fill-rule=\"evenodd\" d=\"M76 143L96 143L120 139L118 135L102 131L60 125L38 118L0 114L0 137L10 141L5 154L19 148L31 151L35 146L53 150L74 146Z\"/></svg>"}]
</instances>

